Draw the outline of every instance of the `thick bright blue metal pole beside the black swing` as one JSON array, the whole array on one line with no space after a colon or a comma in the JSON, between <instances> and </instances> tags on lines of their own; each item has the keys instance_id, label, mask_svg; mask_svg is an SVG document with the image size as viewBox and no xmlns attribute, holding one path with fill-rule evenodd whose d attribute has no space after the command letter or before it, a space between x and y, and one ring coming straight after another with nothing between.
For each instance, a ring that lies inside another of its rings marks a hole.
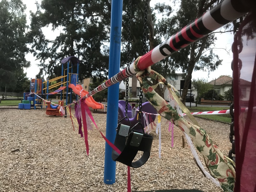
<instances>
[{"instance_id":1,"label":"thick bright blue metal pole beside the black swing","mask_svg":"<svg viewBox=\"0 0 256 192\"><path fill-rule=\"evenodd\" d=\"M121 55L121 32L122 32L122 10L123 0L112 0L111 23L110 23L110 47L109 47L109 74L108 78L120 71ZM119 84L108 88L108 108L106 137L114 143L116 137L117 116L118 116L118 94ZM113 184L116 182L116 162L112 160L112 148L105 144L105 166L104 183Z\"/></svg>"}]
</instances>

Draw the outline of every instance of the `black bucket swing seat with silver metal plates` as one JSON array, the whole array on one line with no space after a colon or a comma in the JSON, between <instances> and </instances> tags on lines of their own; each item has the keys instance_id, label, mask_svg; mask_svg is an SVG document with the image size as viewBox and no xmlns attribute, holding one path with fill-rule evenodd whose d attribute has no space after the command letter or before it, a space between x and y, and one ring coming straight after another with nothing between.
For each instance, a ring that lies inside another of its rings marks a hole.
<instances>
[{"instance_id":1,"label":"black bucket swing seat with silver metal plates","mask_svg":"<svg viewBox=\"0 0 256 192\"><path fill-rule=\"evenodd\" d=\"M142 128L143 130L143 128ZM112 151L112 159L133 168L138 168L148 161L153 137L137 130L132 130L128 125L118 124L114 145L121 151L119 155ZM143 151L139 160L132 162L138 151Z\"/></svg>"}]
</instances>

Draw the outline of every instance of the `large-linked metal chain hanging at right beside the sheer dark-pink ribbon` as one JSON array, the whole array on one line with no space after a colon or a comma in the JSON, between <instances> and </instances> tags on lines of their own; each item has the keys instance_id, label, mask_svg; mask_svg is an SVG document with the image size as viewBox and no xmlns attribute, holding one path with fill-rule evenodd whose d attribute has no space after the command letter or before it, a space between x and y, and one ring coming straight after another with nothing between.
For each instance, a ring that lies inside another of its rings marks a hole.
<instances>
[{"instance_id":1,"label":"large-linked metal chain hanging at right beside the sheer dark-pink ribbon","mask_svg":"<svg viewBox=\"0 0 256 192\"><path fill-rule=\"evenodd\" d=\"M234 50L237 49L237 52L238 54L242 52L243 50L243 43L242 43L242 40L241 40L241 37L238 37L238 39L235 39L236 38L236 32L240 26L240 24L242 23L243 21L243 17L240 17L239 18L239 21L237 20L234 20L233 21L233 25L234 25L234 30L233 30L233 34L234 34L234 42L237 41L237 47L234 47L234 43L232 44L232 48L231 48L231 51L233 52L234 54ZM231 69L233 71L233 68L234 68L234 62L232 60L231 62ZM242 69L242 60L238 59L238 81L240 82L240 70ZM234 74L233 74L233 78L234 78ZM233 79L232 79L232 93L233 93L233 98L234 98L234 92L233 92ZM239 87L239 92L241 91L241 88ZM240 95L240 94L238 94ZM234 103L232 103L229 107L229 113L230 113L230 116L231 116L231 124L230 124L230 133L229 133L229 141L232 143L232 148L229 150L228 152L228 157L230 159L232 159L234 162L236 162L236 156L234 156L236 154L236 151L235 151L235 139L234 139L234 136L235 136L235 132L234 132L234 112L233 112L233 109L234 109ZM238 111L238 110L237 110Z\"/></svg>"}]
</instances>

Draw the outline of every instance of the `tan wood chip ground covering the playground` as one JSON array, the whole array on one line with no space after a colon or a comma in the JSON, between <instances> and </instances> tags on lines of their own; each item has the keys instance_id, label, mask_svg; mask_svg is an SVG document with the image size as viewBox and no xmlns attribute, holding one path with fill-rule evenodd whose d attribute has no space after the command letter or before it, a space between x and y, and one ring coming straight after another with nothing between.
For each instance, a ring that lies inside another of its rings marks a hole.
<instances>
[{"instance_id":1,"label":"tan wood chip ground covering the playground","mask_svg":"<svg viewBox=\"0 0 256 192\"><path fill-rule=\"evenodd\" d=\"M107 115L93 113L93 117L105 134ZM197 121L224 155L228 155L229 125L199 118ZM171 147L168 126L162 119L161 159L155 127L150 133L154 140L148 162L140 168L131 168L132 191L222 191L197 168L188 145L182 148L182 132L177 127L174 127L174 148ZM47 116L45 109L0 107L0 191L127 191L127 166L119 162L116 182L104 184L105 141L92 127L88 131L87 156L84 138L78 135L76 126L73 131L70 118Z\"/></svg>"}]
</instances>

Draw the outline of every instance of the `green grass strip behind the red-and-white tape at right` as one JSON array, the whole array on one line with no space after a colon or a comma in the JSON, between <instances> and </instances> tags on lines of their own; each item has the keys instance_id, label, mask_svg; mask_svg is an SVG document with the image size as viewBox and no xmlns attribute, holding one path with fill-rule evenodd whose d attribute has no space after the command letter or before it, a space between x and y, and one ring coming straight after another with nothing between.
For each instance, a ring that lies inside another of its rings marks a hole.
<instances>
[{"instance_id":1,"label":"green grass strip behind the red-and-white tape at right","mask_svg":"<svg viewBox=\"0 0 256 192\"><path fill-rule=\"evenodd\" d=\"M190 112L201 112L201 111L219 111L219 110L226 110L229 107L191 107L188 108ZM223 115L195 115L199 118L209 119L213 121L219 121L223 123L231 123L231 116L229 114Z\"/></svg>"}]
</instances>

